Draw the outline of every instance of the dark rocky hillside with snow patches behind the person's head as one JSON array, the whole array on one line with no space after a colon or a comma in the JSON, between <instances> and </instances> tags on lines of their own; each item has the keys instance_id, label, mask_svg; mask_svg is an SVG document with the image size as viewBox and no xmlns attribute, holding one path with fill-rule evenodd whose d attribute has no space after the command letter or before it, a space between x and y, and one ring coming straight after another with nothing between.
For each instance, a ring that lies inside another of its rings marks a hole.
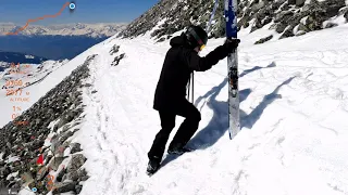
<instances>
[{"instance_id":1,"label":"dark rocky hillside with snow patches behind the person's head","mask_svg":"<svg viewBox=\"0 0 348 195\"><path fill-rule=\"evenodd\" d=\"M224 0L217 1L219 6L212 22L210 37L221 38L225 36L225 3ZM199 2L162 0L132 22L125 30L120 32L120 37L136 37L151 31L151 37L163 41L189 24L206 28L213 6L213 0ZM240 0L237 10L238 29L248 28L250 34L259 29L272 30L258 43L273 38L301 36L306 32L335 27L348 21L348 4L345 0ZM153 30L161 21L163 24Z\"/></svg>"}]
</instances>

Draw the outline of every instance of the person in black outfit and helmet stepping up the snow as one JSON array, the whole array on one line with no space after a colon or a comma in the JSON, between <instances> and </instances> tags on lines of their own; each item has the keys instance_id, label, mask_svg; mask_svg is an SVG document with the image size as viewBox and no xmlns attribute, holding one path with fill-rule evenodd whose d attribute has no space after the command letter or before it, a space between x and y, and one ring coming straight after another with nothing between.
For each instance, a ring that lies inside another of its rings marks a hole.
<instances>
[{"instance_id":1,"label":"person in black outfit and helmet stepping up the snow","mask_svg":"<svg viewBox=\"0 0 348 195\"><path fill-rule=\"evenodd\" d=\"M189 26L186 32L170 41L172 48L166 53L153 101L153 108L159 112L162 129L156 135L148 153L148 173L154 173L160 168L165 144L175 127L176 115L185 117L185 120L171 142L167 153L181 155L189 151L185 145L197 131L201 120L199 110L186 100L186 86L190 74L194 70L210 69L228 53L234 52L240 40L226 40L223 46L200 57L198 53L207 42L208 35L199 26Z\"/></svg>"}]
</instances>

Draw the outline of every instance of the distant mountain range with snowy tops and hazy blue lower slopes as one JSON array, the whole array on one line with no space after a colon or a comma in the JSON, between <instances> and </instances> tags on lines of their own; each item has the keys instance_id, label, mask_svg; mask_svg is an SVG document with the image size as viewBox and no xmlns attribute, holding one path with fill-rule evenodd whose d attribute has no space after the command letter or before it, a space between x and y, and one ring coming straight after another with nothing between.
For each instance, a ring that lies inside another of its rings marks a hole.
<instances>
[{"instance_id":1,"label":"distant mountain range with snowy tops and hazy blue lower slopes","mask_svg":"<svg viewBox=\"0 0 348 195\"><path fill-rule=\"evenodd\" d=\"M58 61L75 57L88 48L119 34L126 24L29 24L18 35L4 35L21 27L12 23L0 23L0 50Z\"/></svg>"}]
</instances>

